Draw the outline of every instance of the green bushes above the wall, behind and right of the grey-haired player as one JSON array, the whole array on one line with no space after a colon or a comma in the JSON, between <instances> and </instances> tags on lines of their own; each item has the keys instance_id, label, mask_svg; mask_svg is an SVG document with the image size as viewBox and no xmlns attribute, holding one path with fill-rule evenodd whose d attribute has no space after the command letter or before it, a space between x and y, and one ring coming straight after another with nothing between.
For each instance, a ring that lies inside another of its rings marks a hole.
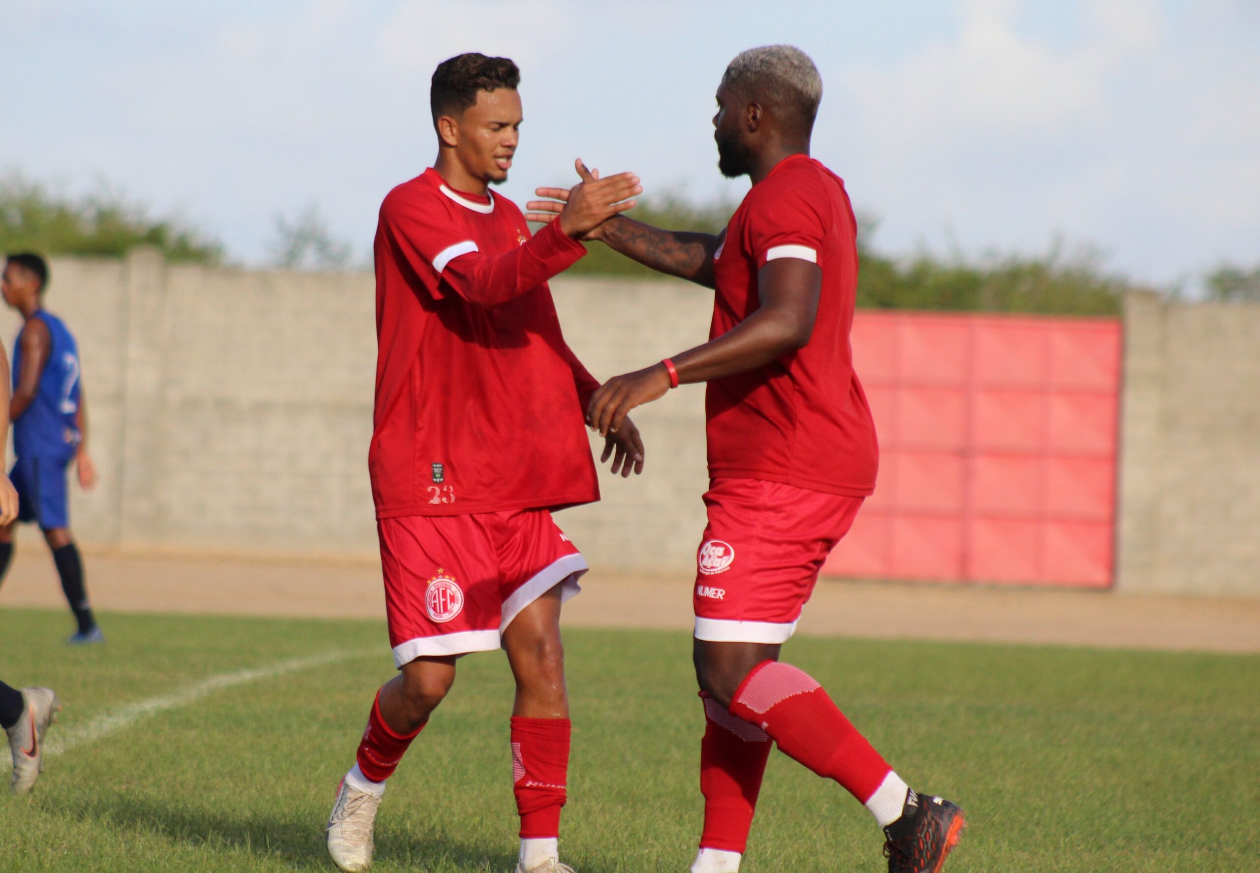
<instances>
[{"instance_id":1,"label":"green bushes above the wall, behind and right of the grey-haired player","mask_svg":"<svg viewBox=\"0 0 1260 873\"><path fill-rule=\"evenodd\" d=\"M640 222L677 231L717 233L736 204L697 205L678 195L648 199L630 214ZM1129 283L1106 272L1089 248L1066 251L1053 244L1043 256L990 254L949 258L920 252L893 258L871 244L876 222L858 217L858 306L872 309L951 310L965 312L1045 312L1115 315ZM602 243L588 243L587 257L570 273L660 278Z\"/></svg>"}]
</instances>

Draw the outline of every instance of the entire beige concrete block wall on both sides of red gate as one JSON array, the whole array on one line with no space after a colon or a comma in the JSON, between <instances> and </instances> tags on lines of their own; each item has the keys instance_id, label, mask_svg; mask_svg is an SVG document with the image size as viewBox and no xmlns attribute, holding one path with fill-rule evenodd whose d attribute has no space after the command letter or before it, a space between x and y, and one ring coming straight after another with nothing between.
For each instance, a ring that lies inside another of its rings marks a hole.
<instances>
[{"instance_id":1,"label":"entire beige concrete block wall on both sides of red gate","mask_svg":"<svg viewBox=\"0 0 1260 873\"><path fill-rule=\"evenodd\" d=\"M82 542L375 554L370 273L168 265L144 249L52 271L47 305L79 338L101 471L91 494L72 486ZM598 378L708 336L712 292L685 282L552 287ZM0 315L8 344L18 326ZM601 469L604 500L557 516L596 572L690 572L703 394L683 387L638 411L645 474ZM1260 596L1260 306L1129 297L1120 457L1120 591Z\"/></svg>"}]
</instances>

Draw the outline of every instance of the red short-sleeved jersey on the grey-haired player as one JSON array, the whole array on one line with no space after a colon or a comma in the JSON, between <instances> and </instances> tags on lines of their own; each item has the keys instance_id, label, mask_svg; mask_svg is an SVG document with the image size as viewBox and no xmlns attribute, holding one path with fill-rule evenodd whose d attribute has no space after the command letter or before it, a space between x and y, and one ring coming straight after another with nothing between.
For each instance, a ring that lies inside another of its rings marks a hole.
<instances>
[{"instance_id":1,"label":"red short-sleeved jersey on the grey-haired player","mask_svg":"<svg viewBox=\"0 0 1260 873\"><path fill-rule=\"evenodd\" d=\"M806 155L780 161L731 217L714 256L711 339L757 310L757 271L781 257L823 271L814 333L765 367L709 382L709 475L866 496L879 450L849 345L857 223L844 183Z\"/></svg>"}]
</instances>

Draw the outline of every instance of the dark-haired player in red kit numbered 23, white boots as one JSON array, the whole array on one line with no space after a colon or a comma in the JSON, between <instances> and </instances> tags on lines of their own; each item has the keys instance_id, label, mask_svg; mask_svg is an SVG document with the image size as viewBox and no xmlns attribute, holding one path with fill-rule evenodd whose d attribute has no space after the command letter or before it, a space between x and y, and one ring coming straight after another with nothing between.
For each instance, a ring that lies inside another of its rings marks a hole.
<instances>
[{"instance_id":1,"label":"dark-haired player in red kit numbered 23, white boots","mask_svg":"<svg viewBox=\"0 0 1260 873\"><path fill-rule=\"evenodd\" d=\"M507 58L441 63L430 93L437 163L381 207L368 469L399 675L377 693L329 819L343 870L372 864L386 780L450 690L456 659L500 646L517 680L518 870L570 870L557 853L570 743L559 610L587 567L549 510L598 499L583 421L598 382L564 344L547 280L641 188L631 174L580 184L530 237L489 189L517 150L519 81ZM610 456L614 472L641 472L633 425L607 441Z\"/></svg>"}]
</instances>

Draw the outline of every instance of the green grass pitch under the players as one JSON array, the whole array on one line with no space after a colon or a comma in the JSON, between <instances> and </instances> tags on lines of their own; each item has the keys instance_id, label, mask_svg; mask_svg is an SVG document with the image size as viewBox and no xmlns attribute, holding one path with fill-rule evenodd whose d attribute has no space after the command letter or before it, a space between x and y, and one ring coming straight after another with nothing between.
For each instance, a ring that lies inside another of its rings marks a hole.
<instances>
[{"instance_id":1,"label":"green grass pitch under the players","mask_svg":"<svg viewBox=\"0 0 1260 873\"><path fill-rule=\"evenodd\" d=\"M0 611L0 678L66 707L35 791L0 797L0 870L333 869L323 824L392 674L382 622L106 615L108 644L87 650L62 644L67 624ZM563 855L580 873L685 870L703 729L688 636L566 644ZM1260 869L1260 658L824 639L788 656L908 781L965 806L946 869ZM152 698L169 708L136 705ZM391 782L374 869L513 868L510 705L501 655L461 663ZM771 757L743 869L873 872L879 849L843 790Z\"/></svg>"}]
</instances>

